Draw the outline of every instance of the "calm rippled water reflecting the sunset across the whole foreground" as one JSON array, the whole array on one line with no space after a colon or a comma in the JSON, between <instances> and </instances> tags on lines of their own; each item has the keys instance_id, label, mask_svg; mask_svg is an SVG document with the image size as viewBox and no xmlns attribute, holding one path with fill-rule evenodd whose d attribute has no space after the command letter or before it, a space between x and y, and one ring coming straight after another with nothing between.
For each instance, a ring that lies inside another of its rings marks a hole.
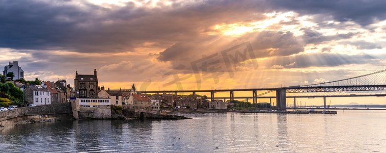
<instances>
[{"instance_id":1,"label":"calm rippled water reflecting the sunset across the whole foreground","mask_svg":"<svg viewBox=\"0 0 386 153\"><path fill-rule=\"evenodd\" d=\"M386 111L186 116L18 125L0 132L0 152L386 152Z\"/></svg>"}]
</instances>

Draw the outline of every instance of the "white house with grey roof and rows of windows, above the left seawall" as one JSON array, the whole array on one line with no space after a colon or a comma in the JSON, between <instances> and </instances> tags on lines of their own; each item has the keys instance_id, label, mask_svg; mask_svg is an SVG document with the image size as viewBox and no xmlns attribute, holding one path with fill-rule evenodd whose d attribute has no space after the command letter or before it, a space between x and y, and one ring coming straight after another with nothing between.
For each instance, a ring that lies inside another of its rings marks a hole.
<instances>
[{"instance_id":1,"label":"white house with grey roof and rows of windows, above the left seawall","mask_svg":"<svg viewBox=\"0 0 386 153\"><path fill-rule=\"evenodd\" d=\"M24 100L28 104L48 105L51 104L51 92L40 85L31 85L24 90Z\"/></svg>"}]
</instances>

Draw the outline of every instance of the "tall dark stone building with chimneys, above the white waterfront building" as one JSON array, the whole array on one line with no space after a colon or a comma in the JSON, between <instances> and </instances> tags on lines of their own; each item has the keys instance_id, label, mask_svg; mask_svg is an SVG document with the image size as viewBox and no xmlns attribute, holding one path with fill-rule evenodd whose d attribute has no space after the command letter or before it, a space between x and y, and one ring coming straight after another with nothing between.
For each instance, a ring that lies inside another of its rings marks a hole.
<instances>
[{"instance_id":1,"label":"tall dark stone building with chimneys, above the white waterfront building","mask_svg":"<svg viewBox=\"0 0 386 153\"><path fill-rule=\"evenodd\" d=\"M96 69L94 69L94 74L78 74L76 71L74 84L76 98L98 98Z\"/></svg>"}]
</instances>

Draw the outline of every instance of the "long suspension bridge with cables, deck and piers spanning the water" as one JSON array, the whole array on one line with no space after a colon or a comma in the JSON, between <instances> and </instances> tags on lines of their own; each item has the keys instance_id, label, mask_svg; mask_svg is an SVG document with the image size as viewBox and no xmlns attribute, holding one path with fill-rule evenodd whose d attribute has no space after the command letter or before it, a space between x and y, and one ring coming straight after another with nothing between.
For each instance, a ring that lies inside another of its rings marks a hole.
<instances>
[{"instance_id":1,"label":"long suspension bridge with cables, deck and piers spanning the water","mask_svg":"<svg viewBox=\"0 0 386 153\"><path fill-rule=\"evenodd\" d=\"M265 91L258 94L258 91ZM327 97L364 97L364 96L377 96L384 97L384 93L374 93L374 91L386 91L386 69L376 71L373 73L359 75L352 78L330 81L318 84L310 84L303 86L289 86L289 87L280 87L280 88L250 88L250 89L211 89L211 90L162 90L162 91L137 91L139 93L210 93L210 100L214 99L252 99L252 103L257 103L258 98L269 98L270 103L272 103L272 98L276 99L277 109L279 111L285 111L287 109L286 98L294 99L294 108L296 108L296 98L323 98L323 105L326 108L326 98ZM219 92L229 92L229 96L215 96L215 93ZM235 97L235 92L251 92L251 96L237 96ZM267 96L269 93L275 92L275 96ZM302 93L312 95L288 95L293 93ZM335 93L335 94L317 94L317 93Z\"/></svg>"}]
</instances>

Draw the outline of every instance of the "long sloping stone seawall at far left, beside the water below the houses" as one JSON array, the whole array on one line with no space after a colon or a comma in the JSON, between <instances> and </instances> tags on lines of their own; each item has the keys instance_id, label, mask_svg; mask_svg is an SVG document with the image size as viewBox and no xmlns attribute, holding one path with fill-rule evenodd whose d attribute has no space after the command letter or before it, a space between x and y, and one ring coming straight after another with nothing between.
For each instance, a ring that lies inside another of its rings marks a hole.
<instances>
[{"instance_id":1,"label":"long sloping stone seawall at far left, beside the water below the houses","mask_svg":"<svg viewBox=\"0 0 386 153\"><path fill-rule=\"evenodd\" d=\"M0 129L17 124L72 119L71 103L22 107L0 112Z\"/></svg>"}]
</instances>

